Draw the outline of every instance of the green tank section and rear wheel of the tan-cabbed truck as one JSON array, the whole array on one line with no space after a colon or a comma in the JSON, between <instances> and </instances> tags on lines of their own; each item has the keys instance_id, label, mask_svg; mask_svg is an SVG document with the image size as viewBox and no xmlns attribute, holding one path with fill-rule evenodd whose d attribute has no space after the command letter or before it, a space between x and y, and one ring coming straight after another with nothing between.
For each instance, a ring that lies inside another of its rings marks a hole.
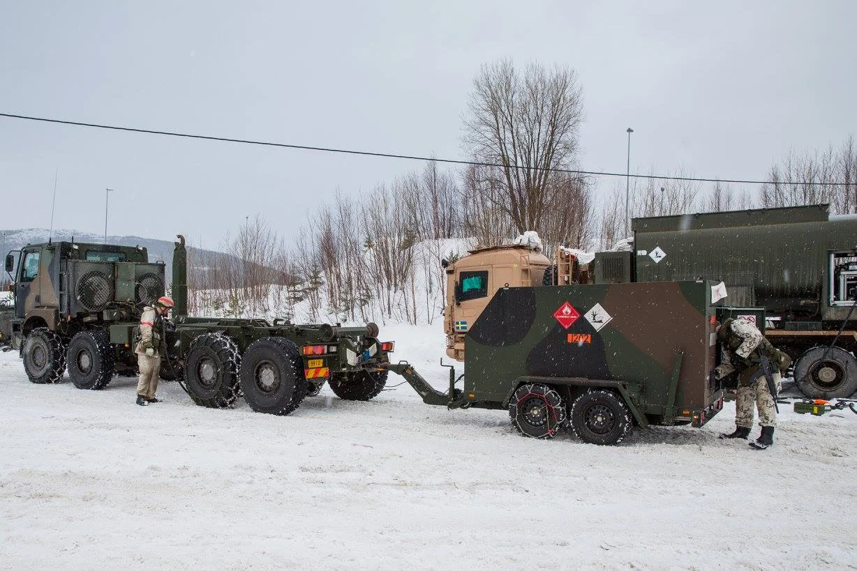
<instances>
[{"instance_id":1,"label":"green tank section and rear wheel of the tan-cabbed truck","mask_svg":"<svg viewBox=\"0 0 857 571\"><path fill-rule=\"evenodd\" d=\"M632 230L630 252L596 253L595 283L722 281L730 306L764 307L758 325L807 396L857 390L857 217L809 205L635 218Z\"/></svg>"}]
</instances>

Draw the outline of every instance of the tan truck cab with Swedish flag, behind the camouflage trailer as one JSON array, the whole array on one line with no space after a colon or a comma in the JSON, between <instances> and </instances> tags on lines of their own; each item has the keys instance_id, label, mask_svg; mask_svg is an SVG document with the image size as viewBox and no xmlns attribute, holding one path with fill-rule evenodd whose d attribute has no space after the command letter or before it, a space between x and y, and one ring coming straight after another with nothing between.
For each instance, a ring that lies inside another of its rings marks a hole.
<instances>
[{"instance_id":1,"label":"tan truck cab with Swedish flag, behind the camouflage trailer","mask_svg":"<svg viewBox=\"0 0 857 571\"><path fill-rule=\"evenodd\" d=\"M552 262L532 247L511 245L471 250L446 266L446 354L464 360L464 335L498 289L542 285Z\"/></svg>"}]
</instances>

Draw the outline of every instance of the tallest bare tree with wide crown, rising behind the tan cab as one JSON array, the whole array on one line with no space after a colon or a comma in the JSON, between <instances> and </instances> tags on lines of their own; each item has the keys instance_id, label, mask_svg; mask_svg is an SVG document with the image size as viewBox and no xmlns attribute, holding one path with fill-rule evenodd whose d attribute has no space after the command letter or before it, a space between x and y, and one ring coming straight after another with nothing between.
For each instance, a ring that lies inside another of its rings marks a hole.
<instances>
[{"instance_id":1,"label":"tallest bare tree with wide crown, rising behind the tan cab","mask_svg":"<svg viewBox=\"0 0 857 571\"><path fill-rule=\"evenodd\" d=\"M531 64L518 74L508 60L482 66L470 93L464 143L477 162L498 166L470 170L465 178L476 180L465 182L466 192L504 212L518 233L542 229L567 192L567 176L551 170L576 164L582 121L572 68Z\"/></svg>"}]
</instances>

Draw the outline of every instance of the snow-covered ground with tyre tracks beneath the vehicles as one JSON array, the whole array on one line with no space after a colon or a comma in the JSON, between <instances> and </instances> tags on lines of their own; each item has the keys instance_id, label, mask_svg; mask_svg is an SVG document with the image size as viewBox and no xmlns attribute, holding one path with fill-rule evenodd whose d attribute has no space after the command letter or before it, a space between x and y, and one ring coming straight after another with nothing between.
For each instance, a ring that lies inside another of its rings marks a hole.
<instances>
[{"instance_id":1,"label":"snow-covered ground with tyre tracks beneath the vehicles","mask_svg":"<svg viewBox=\"0 0 857 571\"><path fill-rule=\"evenodd\" d=\"M445 385L440 324L382 337ZM287 417L195 407L174 383L134 396L131 378L31 384L0 354L0 568L857 567L850 411L784 406L756 451L717 439L731 404L598 447L406 384L326 388Z\"/></svg>"}]
</instances>

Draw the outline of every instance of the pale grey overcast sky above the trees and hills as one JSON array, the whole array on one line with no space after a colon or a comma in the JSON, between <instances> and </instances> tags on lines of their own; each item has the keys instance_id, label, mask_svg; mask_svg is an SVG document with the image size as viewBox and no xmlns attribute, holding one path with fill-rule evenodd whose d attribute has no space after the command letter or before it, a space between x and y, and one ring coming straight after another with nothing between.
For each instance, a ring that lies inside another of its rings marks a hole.
<instances>
[{"instance_id":1,"label":"pale grey overcast sky above the trees and hills","mask_svg":"<svg viewBox=\"0 0 857 571\"><path fill-rule=\"evenodd\" d=\"M857 131L857 2L15 2L0 0L0 112L464 158L479 66L576 68L585 170L761 178ZM4 229L217 247L257 213L285 237L315 205L423 164L0 117ZM599 193L613 184L602 181Z\"/></svg>"}]
</instances>

